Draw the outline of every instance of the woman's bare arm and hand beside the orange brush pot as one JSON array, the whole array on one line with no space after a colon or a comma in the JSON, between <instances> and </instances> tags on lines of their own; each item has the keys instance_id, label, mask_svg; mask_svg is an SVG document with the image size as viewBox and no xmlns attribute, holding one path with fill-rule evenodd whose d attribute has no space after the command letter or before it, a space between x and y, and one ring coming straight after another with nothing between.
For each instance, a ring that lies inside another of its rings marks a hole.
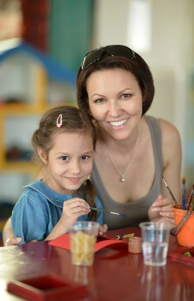
<instances>
[{"instance_id":1,"label":"woman's bare arm and hand beside the orange brush pot","mask_svg":"<svg viewBox=\"0 0 194 301\"><path fill-rule=\"evenodd\" d=\"M181 201L180 194L180 170L181 170L181 142L177 129L165 120L159 120L161 127L162 176L172 191L178 203ZM162 196L158 196L150 207L148 215L152 221L165 221L166 218L174 223L173 213L170 209L174 202L161 179Z\"/></svg>"}]
</instances>

